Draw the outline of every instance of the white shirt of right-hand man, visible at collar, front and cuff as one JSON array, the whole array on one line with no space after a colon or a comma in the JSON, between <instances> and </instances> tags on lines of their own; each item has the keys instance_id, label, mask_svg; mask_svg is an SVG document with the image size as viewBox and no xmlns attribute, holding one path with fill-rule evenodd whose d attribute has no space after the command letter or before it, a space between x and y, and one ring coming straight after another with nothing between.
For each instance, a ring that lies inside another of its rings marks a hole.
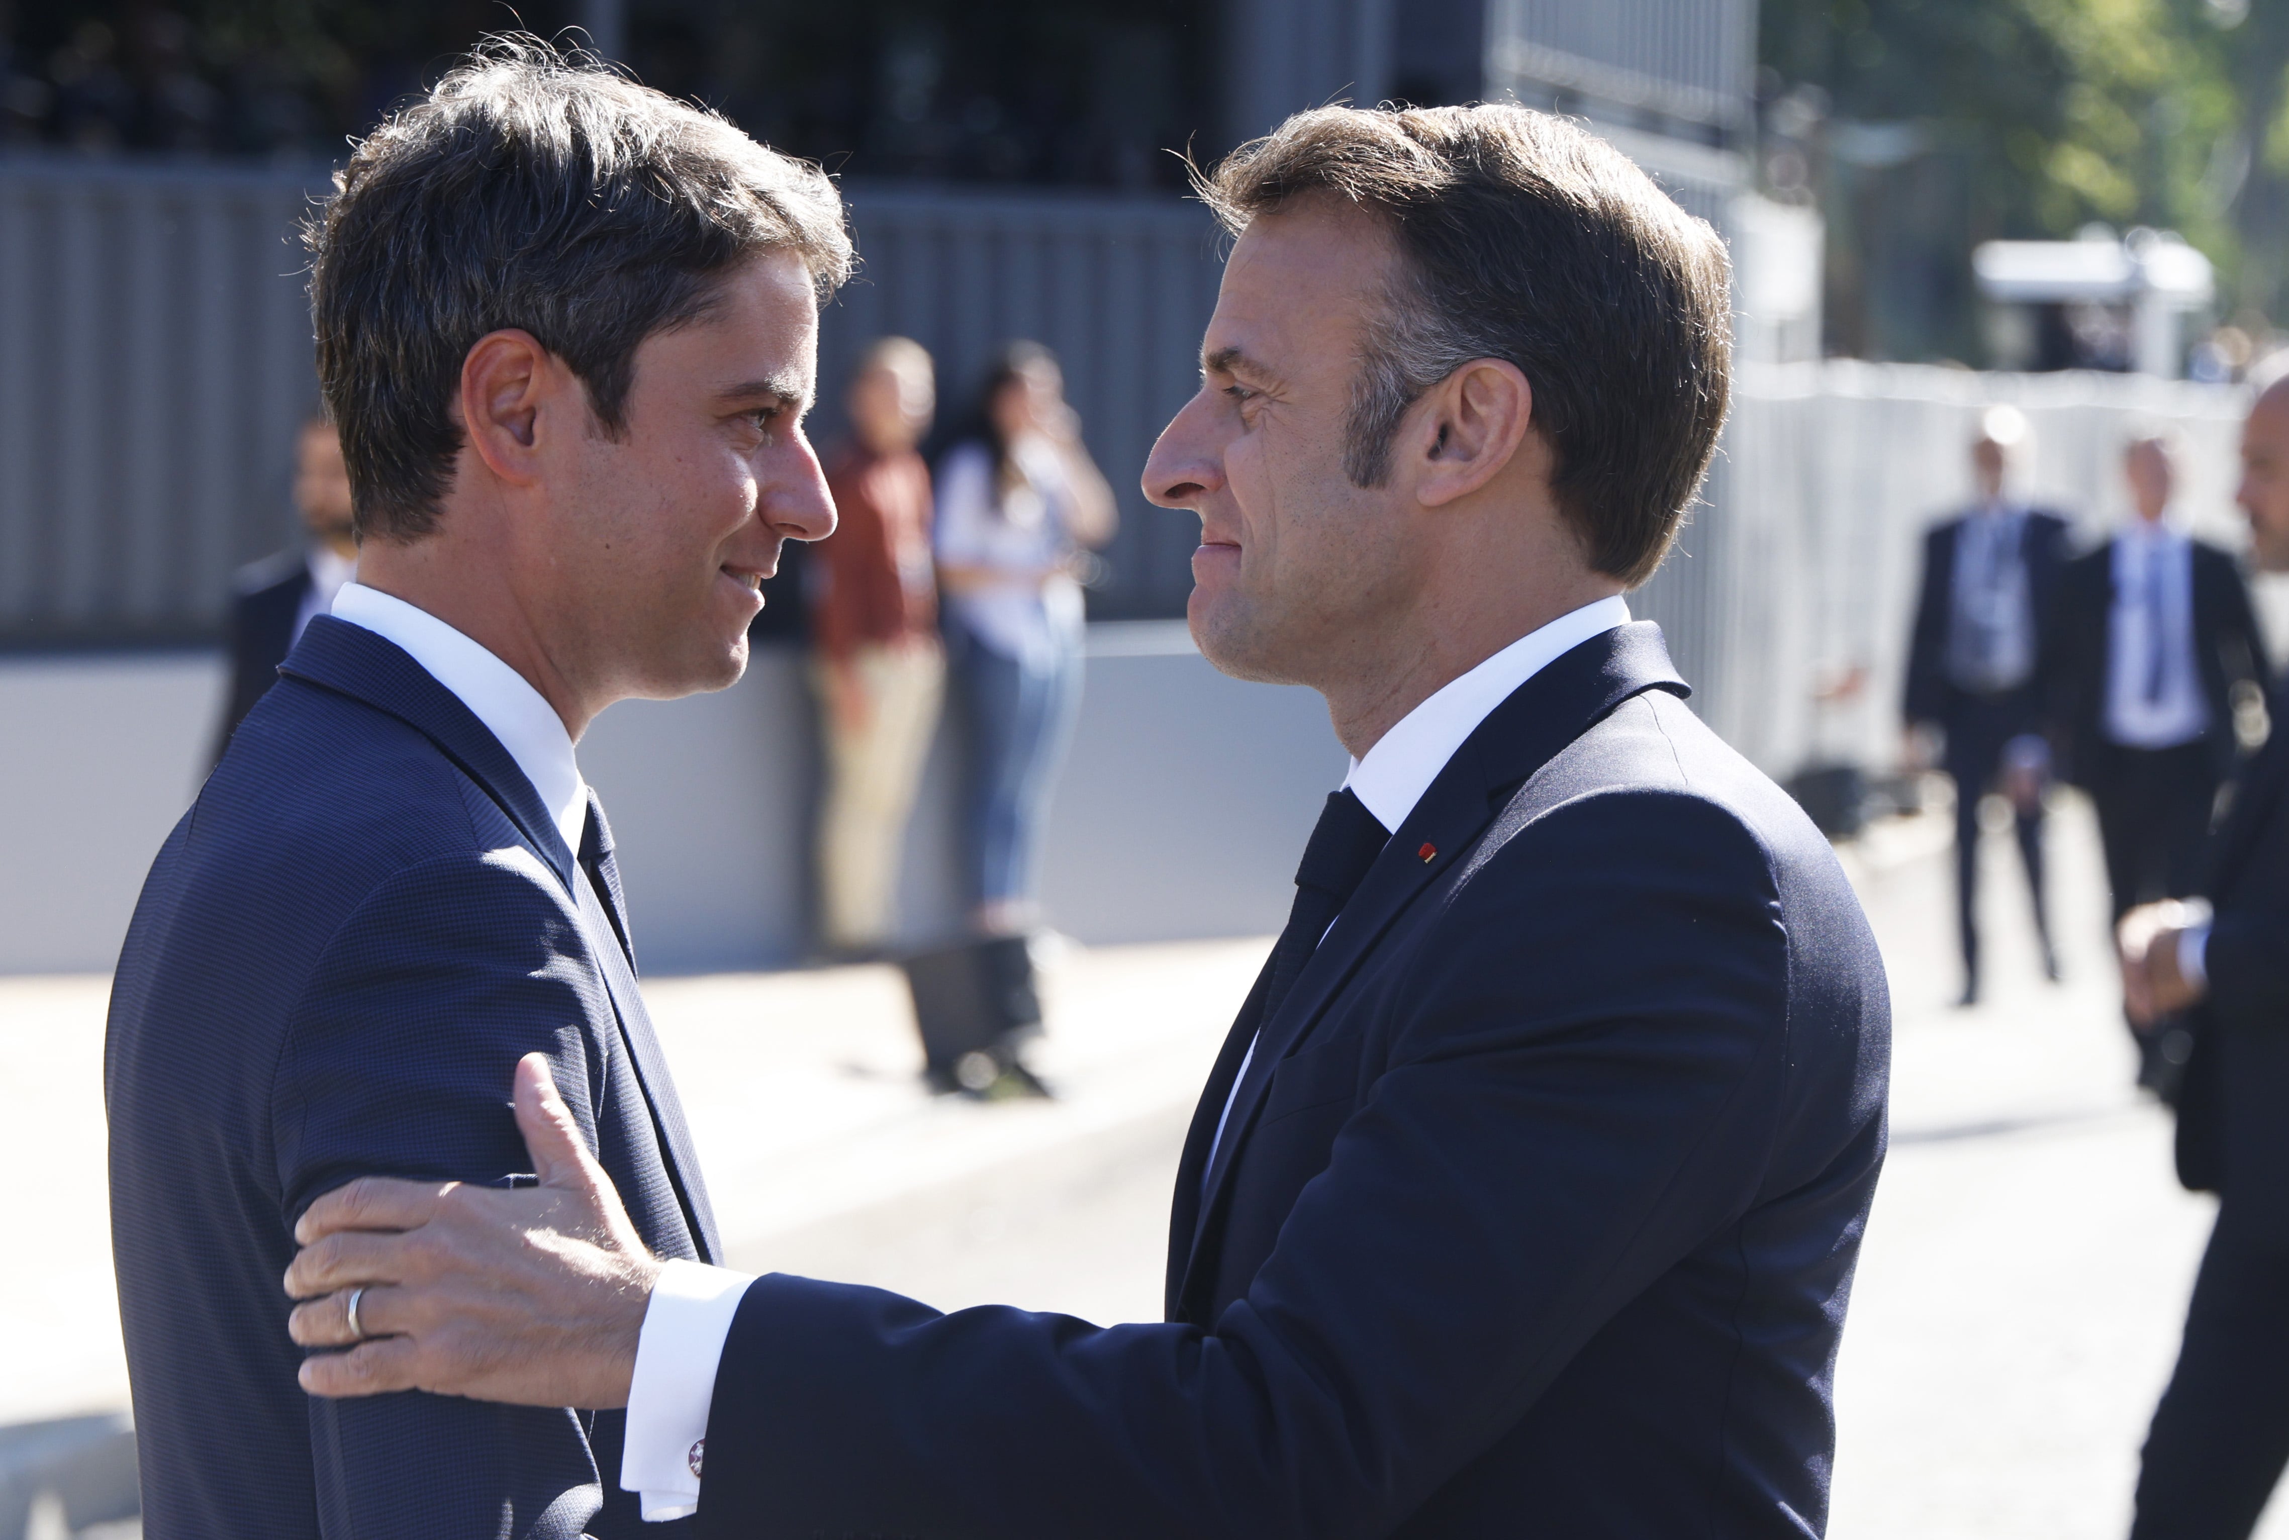
<instances>
[{"instance_id":1,"label":"white shirt of right-hand man, visible at collar, front and cuff","mask_svg":"<svg viewBox=\"0 0 2289 1540\"><path fill-rule=\"evenodd\" d=\"M1399 719L1364 757L1351 762L1344 785L1383 828L1399 828L1447 769L1454 751L1497 705L1557 657L1627 622L1630 604L1614 595L1520 636ZM1254 1043L1248 1046L1248 1055L1254 1057ZM1245 1059L1241 1073L1248 1073ZM1238 1078L1231 1085L1238 1089ZM1225 1117L1229 1114L1227 1098ZM1222 1140L1222 1133L1225 1124L1218 1119L1215 1137ZM1213 1142L1209 1153L1215 1153ZM620 1487L643 1494L645 1519L678 1519L698 1508L698 1467L716 1362L723 1357L723 1339L730 1336L739 1297L753 1281L746 1272L694 1261L671 1261L659 1275L636 1339L636 1373L627 1391L627 1458L620 1462ZM645 1451L641 1469L639 1448ZM655 1510L652 1492L659 1490L655 1483L673 1474L671 1462L689 1467L691 1506Z\"/></svg>"}]
</instances>

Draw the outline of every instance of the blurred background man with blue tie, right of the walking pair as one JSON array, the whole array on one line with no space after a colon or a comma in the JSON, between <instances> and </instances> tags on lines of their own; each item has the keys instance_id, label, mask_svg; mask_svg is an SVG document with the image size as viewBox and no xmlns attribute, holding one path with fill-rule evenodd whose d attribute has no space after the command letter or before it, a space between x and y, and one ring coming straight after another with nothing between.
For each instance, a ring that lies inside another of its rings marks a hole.
<instances>
[{"instance_id":1,"label":"blurred background man with blue tie, right of the walking pair","mask_svg":"<svg viewBox=\"0 0 2289 1540\"><path fill-rule=\"evenodd\" d=\"M2131 439L2136 519L2060 581L2046 673L2069 778L2090 792L2113 918L2193 892L2218 787L2234 769L2234 684L2264 648L2232 554L2172 517L2175 444ZM2179 1027L2140 1032L2138 1085L2175 1096Z\"/></svg>"}]
</instances>

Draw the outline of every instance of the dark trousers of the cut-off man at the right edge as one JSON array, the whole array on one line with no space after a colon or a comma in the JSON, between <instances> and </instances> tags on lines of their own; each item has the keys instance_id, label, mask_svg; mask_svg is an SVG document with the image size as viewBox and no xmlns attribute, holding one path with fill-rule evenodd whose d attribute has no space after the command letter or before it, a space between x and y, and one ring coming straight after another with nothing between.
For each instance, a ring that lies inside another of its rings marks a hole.
<instances>
[{"instance_id":1,"label":"dark trousers of the cut-off man at the right edge","mask_svg":"<svg viewBox=\"0 0 2289 1540\"><path fill-rule=\"evenodd\" d=\"M2131 1540L2241 1540L2289 1462L2289 1245L2218 1210L2154 1407Z\"/></svg>"}]
</instances>

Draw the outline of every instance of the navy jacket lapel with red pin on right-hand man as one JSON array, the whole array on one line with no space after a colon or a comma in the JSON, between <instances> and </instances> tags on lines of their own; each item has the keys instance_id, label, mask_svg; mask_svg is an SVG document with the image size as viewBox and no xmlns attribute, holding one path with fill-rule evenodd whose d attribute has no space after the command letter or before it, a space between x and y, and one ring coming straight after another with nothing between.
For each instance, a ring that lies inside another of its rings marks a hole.
<instances>
[{"instance_id":1,"label":"navy jacket lapel with red pin on right-hand man","mask_svg":"<svg viewBox=\"0 0 2289 1540\"><path fill-rule=\"evenodd\" d=\"M1321 1014L1325 1014L1334 995L1357 973L1383 934L1405 913L1408 904L1435 879L1444 879L1463 863L1472 844L1502 810L1506 792L1534 776L1566 744L1586 732L1591 723L1646 689L1687 693L1685 680L1678 677L1669 661L1669 650L1662 645L1662 627L1650 620L1623 625L1584 641L1511 691L1463 741L1431 783L1431 789L1424 792L1415 810L1392 833L1389 844L1383 847L1357 892L1344 904L1344 911L1334 918L1318 950L1312 952L1312 959L1296 977L1296 986L1280 1002L1280 1009L1261 1023L1257 1034L1243 1034L1243 1023L1234 1025L1231 1037L1225 1041L1225 1053L1218 1057L1218 1071L1225 1069L1227 1059L1236 1064L1234 1043L1245 1055L1243 1037L1254 1037L1257 1050L1248 1064L1248 1073L1241 1078L1231 1114L1225 1119L1225 1137L1218 1142L1215 1160L1209 1167L1197 1217L1188 1227L1190 1233L1177 1231L1172 1236L1172 1243L1179 1236L1186 1240L1181 1268L1174 1254L1170 1256L1170 1275L1181 1279L1170 1295L1172 1316L1199 1284L1195 1263L1206 1252L1204 1240L1211 1227L1220 1222L1225 1199L1231 1190L1231 1172L1270 1092L1273 1071L1309 1037ZM1250 995L1250 1007L1261 1000L1261 993L1264 982L1259 979L1257 991ZM1243 1007L1245 1016L1248 1007ZM1186 1140L1186 1169L1197 1169L1193 1146L1202 1142L1202 1121L1213 1133L1215 1117L1222 1112L1222 1101L1213 1096L1213 1089L1215 1078L1211 1078L1211 1094L1202 1098L1199 1110L1193 1114L1193 1137ZM1211 1101L1215 1101L1213 1110ZM1179 1176L1177 1215L1172 1217L1181 1220L1183 1204L1183 1176Z\"/></svg>"}]
</instances>

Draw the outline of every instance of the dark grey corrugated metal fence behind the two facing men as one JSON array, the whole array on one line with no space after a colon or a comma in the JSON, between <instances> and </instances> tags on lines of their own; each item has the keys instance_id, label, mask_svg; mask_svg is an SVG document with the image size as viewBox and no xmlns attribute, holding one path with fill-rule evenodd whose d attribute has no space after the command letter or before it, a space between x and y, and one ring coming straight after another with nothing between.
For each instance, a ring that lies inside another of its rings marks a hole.
<instances>
[{"instance_id":1,"label":"dark grey corrugated metal fence behind the two facing men","mask_svg":"<svg viewBox=\"0 0 2289 1540\"><path fill-rule=\"evenodd\" d=\"M293 435L316 407L293 227L323 185L314 167L0 160L0 645L211 638L231 572L293 538ZM1138 474L1197 378L1209 215L847 192L865 263L824 316L819 432L881 332L938 357L950 412L998 343L1048 343L1122 497L1096 613L1179 613L1193 531Z\"/></svg>"}]
</instances>

